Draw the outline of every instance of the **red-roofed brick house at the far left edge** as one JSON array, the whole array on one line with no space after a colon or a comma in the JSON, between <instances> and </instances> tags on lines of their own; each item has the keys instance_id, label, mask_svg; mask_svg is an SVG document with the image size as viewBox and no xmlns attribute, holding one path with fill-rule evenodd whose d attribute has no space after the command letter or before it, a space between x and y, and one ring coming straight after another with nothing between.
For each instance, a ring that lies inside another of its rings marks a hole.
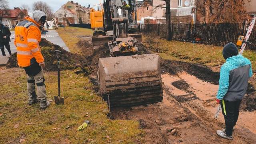
<instances>
[{"instance_id":1,"label":"red-roofed brick house at the far left edge","mask_svg":"<svg viewBox=\"0 0 256 144\"><path fill-rule=\"evenodd\" d=\"M20 10L20 8L0 10L0 16L2 17L2 22L9 22L10 25L16 26L16 24L24 20L25 16L28 16L28 10Z\"/></svg>"}]
</instances>

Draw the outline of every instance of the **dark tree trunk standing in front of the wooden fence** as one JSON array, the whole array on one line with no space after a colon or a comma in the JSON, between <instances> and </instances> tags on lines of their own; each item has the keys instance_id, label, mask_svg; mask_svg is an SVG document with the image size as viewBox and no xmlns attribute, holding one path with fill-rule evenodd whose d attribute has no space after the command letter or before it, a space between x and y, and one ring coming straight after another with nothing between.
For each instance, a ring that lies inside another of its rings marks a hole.
<instances>
[{"instance_id":1,"label":"dark tree trunk standing in front of the wooden fence","mask_svg":"<svg viewBox=\"0 0 256 144\"><path fill-rule=\"evenodd\" d=\"M165 0L166 3L166 40L171 40L171 5L170 0Z\"/></svg>"}]
</instances>

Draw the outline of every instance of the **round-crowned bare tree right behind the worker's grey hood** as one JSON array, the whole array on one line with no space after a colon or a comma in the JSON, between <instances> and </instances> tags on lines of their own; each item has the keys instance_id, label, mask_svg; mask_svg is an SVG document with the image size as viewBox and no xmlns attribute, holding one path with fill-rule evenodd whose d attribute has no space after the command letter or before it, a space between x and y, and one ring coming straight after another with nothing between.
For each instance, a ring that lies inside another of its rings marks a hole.
<instances>
[{"instance_id":1,"label":"round-crowned bare tree right behind the worker's grey hood","mask_svg":"<svg viewBox=\"0 0 256 144\"><path fill-rule=\"evenodd\" d=\"M47 16L47 20L52 20L52 18L54 18L53 9L46 2L42 2L42 1L34 2L32 4L32 10L43 11Z\"/></svg>"}]
</instances>

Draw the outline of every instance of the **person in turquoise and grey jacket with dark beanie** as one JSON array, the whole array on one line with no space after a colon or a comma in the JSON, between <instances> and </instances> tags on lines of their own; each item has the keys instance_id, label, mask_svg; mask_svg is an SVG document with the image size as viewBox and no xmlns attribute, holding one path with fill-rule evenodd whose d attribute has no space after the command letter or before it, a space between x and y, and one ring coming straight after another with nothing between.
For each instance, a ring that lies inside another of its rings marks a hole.
<instances>
[{"instance_id":1,"label":"person in turquoise and grey jacket with dark beanie","mask_svg":"<svg viewBox=\"0 0 256 144\"><path fill-rule=\"evenodd\" d=\"M223 47L222 54L226 62L220 68L220 86L216 100L221 104L226 128L217 130L217 134L232 140L239 107L246 93L248 79L252 76L252 64L244 56L238 55L238 49L232 42Z\"/></svg>"}]
</instances>

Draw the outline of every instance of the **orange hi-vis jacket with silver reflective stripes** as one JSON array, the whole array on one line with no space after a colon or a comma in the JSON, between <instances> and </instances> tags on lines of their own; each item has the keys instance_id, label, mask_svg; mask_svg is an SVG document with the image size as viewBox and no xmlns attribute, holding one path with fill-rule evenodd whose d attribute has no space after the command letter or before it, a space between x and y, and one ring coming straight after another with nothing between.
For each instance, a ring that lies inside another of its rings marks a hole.
<instances>
[{"instance_id":1,"label":"orange hi-vis jacket with silver reflective stripes","mask_svg":"<svg viewBox=\"0 0 256 144\"><path fill-rule=\"evenodd\" d=\"M26 16L15 27L14 44L17 47L18 65L21 67L30 66L35 62L44 62L39 47L41 41L39 26L32 18Z\"/></svg>"}]
</instances>

